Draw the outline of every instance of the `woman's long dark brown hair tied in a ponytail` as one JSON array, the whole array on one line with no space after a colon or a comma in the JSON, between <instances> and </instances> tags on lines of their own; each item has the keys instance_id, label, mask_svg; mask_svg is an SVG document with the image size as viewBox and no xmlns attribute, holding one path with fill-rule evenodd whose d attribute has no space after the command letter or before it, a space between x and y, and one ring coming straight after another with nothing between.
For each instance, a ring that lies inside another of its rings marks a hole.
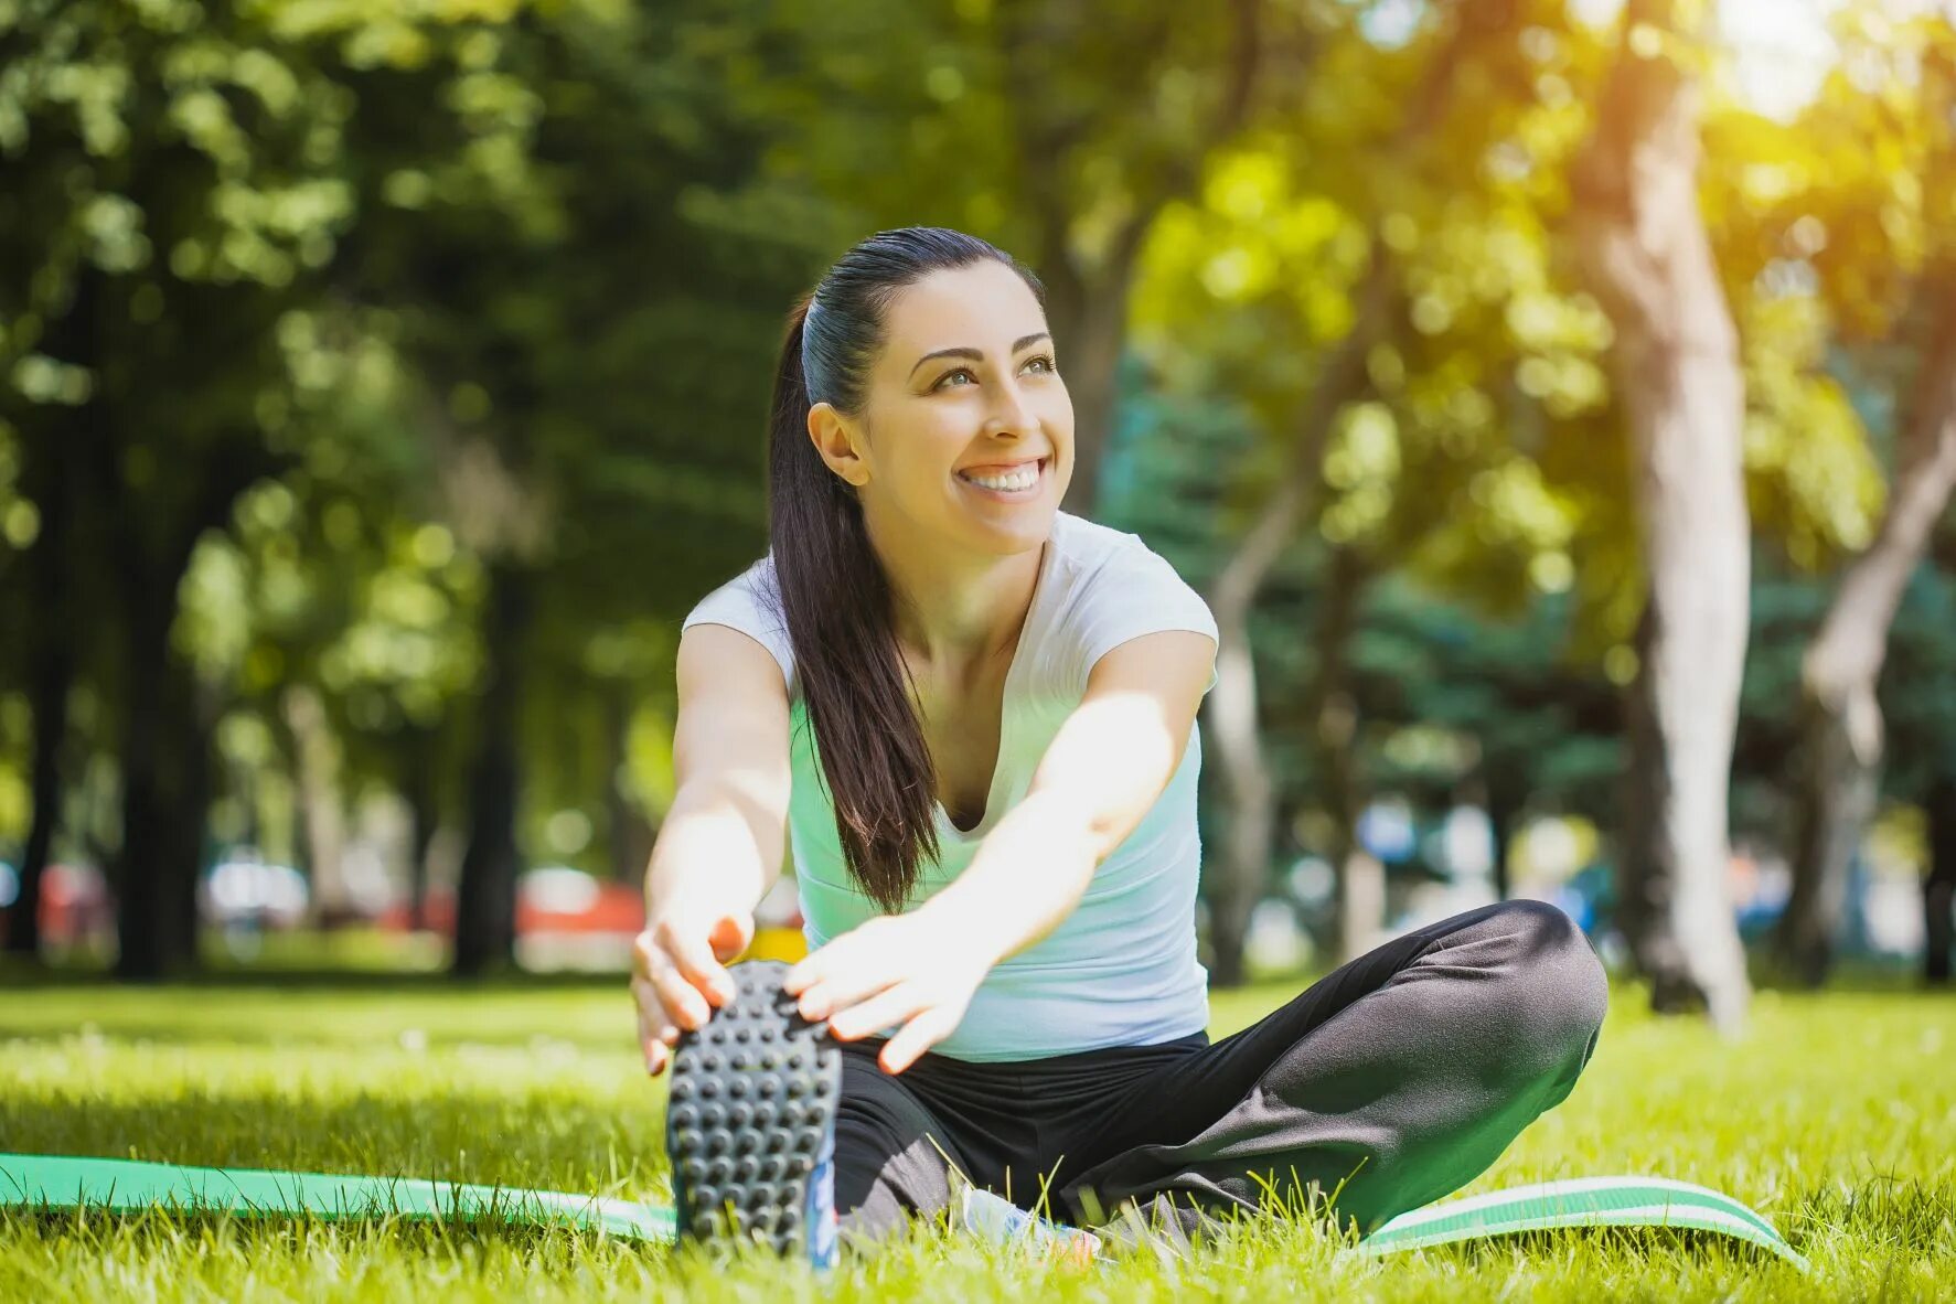
<instances>
[{"instance_id":1,"label":"woman's long dark brown hair tied in a ponytail","mask_svg":"<svg viewBox=\"0 0 1956 1304\"><path fill-rule=\"evenodd\" d=\"M931 272L1017 258L962 231L904 227L853 246L794 305L769 409L767 506L782 624L814 729L818 772L835 805L849 876L900 911L937 856L937 772L896 649L888 577L870 549L855 487L808 438L808 409L861 416L890 301Z\"/></svg>"}]
</instances>

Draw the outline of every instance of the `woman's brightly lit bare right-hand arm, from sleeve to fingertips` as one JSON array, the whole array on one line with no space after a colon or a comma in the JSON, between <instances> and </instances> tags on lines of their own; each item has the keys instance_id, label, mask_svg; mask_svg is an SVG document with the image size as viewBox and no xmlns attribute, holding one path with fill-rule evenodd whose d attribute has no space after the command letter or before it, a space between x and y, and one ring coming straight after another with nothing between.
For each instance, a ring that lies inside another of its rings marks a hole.
<instances>
[{"instance_id":1,"label":"woman's brightly lit bare right-hand arm, from sleeve to fingertips","mask_svg":"<svg viewBox=\"0 0 1956 1304\"><path fill-rule=\"evenodd\" d=\"M1072 913L1093 870L1168 788L1201 706L1215 641L1162 630L1107 651L1033 772L958 878L908 915L833 938L788 972L804 1019L855 1040L902 1028L900 1073L951 1036L986 972Z\"/></svg>"}]
</instances>

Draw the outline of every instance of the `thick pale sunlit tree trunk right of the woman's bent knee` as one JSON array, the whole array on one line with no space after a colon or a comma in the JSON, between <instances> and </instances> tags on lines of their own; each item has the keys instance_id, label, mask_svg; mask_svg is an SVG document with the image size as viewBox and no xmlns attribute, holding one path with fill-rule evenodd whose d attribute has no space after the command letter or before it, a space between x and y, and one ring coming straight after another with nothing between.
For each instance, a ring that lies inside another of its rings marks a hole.
<instances>
[{"instance_id":1,"label":"thick pale sunlit tree trunk right of the woman's bent knee","mask_svg":"<svg viewBox=\"0 0 1956 1304\"><path fill-rule=\"evenodd\" d=\"M1665 51L1680 39L1672 8L1629 0L1571 182L1577 248L1616 326L1651 585L1629 690L1623 925L1659 1009L1704 1003L1735 1032L1751 997L1725 890L1751 579L1745 381L1698 211L1698 88Z\"/></svg>"}]
</instances>

